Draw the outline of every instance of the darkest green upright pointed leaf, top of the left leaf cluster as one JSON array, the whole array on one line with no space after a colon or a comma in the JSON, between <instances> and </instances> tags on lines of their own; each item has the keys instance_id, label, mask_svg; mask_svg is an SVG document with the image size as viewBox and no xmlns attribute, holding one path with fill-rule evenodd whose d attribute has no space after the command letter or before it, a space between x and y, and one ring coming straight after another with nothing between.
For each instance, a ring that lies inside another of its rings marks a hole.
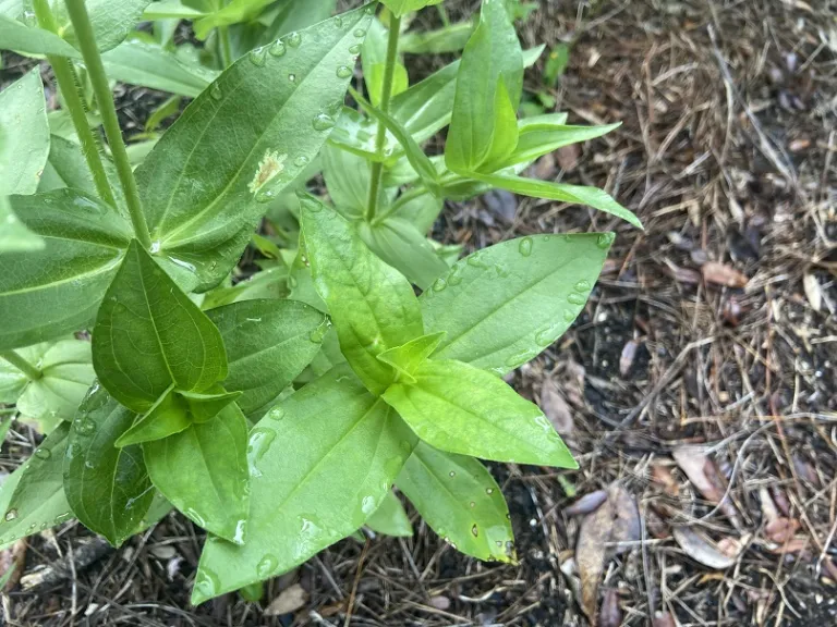
<instances>
[{"instance_id":1,"label":"darkest green upright pointed leaf, top of the left leaf cluster","mask_svg":"<svg viewBox=\"0 0 837 627\"><path fill-rule=\"evenodd\" d=\"M205 392L227 376L218 329L135 239L99 309L93 365L108 392L137 413L172 383Z\"/></svg>"}]
</instances>

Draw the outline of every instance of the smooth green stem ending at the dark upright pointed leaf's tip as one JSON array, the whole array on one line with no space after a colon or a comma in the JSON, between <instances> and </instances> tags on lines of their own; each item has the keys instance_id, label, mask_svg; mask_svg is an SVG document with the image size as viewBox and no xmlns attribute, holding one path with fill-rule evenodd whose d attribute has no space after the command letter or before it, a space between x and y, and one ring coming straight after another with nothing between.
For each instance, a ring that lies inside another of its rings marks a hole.
<instances>
[{"instance_id":1,"label":"smooth green stem ending at the dark upright pointed leaf's tip","mask_svg":"<svg viewBox=\"0 0 837 627\"><path fill-rule=\"evenodd\" d=\"M128 210L131 213L131 222L134 225L134 235L143 246L150 248L151 236L148 233L148 224L145 222L140 193L136 189L136 180L134 179L133 170L131 170L131 162L128 159L125 143L122 140L122 131L119 128L119 120L117 119L117 108L113 106L113 96L108 85L108 76L105 73L105 66L101 64L99 49L96 47L96 39L93 34L90 17L87 15L87 8L84 5L84 0L65 0L65 3L70 22L73 24L78 46L82 49L82 57L87 66L87 73L90 76L96 103L99 106L105 135L108 137L110 151L113 155L117 173L119 174L119 182L122 184Z\"/></svg>"}]
</instances>

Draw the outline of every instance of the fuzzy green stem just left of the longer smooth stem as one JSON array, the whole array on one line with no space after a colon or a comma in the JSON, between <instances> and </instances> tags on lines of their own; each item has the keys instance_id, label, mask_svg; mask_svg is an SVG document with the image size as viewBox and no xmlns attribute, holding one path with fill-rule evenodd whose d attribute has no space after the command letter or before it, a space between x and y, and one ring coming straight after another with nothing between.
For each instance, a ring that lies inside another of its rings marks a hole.
<instances>
[{"instance_id":1,"label":"fuzzy green stem just left of the longer smooth stem","mask_svg":"<svg viewBox=\"0 0 837 627\"><path fill-rule=\"evenodd\" d=\"M49 9L48 1L35 0L33 4L40 27L58 34L58 23L56 22L56 16L52 14L52 11ZM73 121L75 134L78 136L78 142L82 145L82 153L87 161L87 168L89 168L90 174L93 174L93 183L96 186L96 192L98 193L99 198L110 206L116 207L117 201L113 198L113 190L110 188L110 182L105 172L105 164L101 161L101 155L99 155L99 143L94 136L90 125L87 123L84 102L78 95L78 83L73 66L70 63L70 60L64 57L48 54L47 59L49 60L50 65L52 65L52 72L56 75L58 88L64 97L64 103L66 104L70 118Z\"/></svg>"}]
</instances>

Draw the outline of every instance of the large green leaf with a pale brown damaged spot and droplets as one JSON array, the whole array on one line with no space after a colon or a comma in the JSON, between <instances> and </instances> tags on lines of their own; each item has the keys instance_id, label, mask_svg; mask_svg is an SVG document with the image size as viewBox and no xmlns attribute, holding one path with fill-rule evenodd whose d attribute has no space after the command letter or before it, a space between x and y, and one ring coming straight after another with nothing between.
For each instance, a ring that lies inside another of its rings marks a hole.
<instances>
[{"instance_id":1,"label":"large green leaf with a pale brown damaged spot and droplets","mask_svg":"<svg viewBox=\"0 0 837 627\"><path fill-rule=\"evenodd\" d=\"M365 9L350 11L238 60L137 168L151 238L195 268L198 290L229 274L264 201L319 151L349 82L337 71L352 65L354 33L368 21Z\"/></svg>"}]
</instances>

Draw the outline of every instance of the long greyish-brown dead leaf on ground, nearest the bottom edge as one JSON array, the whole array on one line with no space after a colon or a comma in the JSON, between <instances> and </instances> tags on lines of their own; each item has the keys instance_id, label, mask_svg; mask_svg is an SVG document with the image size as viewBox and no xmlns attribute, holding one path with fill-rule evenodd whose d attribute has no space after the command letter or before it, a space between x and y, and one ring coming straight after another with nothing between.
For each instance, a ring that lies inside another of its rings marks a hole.
<instances>
[{"instance_id":1,"label":"long greyish-brown dead leaf on ground, nearest the bottom edge","mask_svg":"<svg viewBox=\"0 0 837 627\"><path fill-rule=\"evenodd\" d=\"M640 539L640 511L636 501L618 483L607 489L607 500L581 522L575 544L575 562L581 577L581 607L596 624L598 583L608 554L619 551L617 542ZM621 548L624 550L624 548Z\"/></svg>"}]
</instances>

